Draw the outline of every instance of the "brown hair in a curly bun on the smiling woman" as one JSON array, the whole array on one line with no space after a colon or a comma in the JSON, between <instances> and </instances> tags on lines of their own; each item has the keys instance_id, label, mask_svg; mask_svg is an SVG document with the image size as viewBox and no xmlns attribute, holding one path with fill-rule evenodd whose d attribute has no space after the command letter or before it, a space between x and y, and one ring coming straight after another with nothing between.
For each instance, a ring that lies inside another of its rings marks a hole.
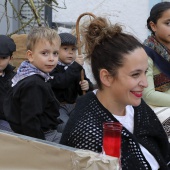
<instances>
[{"instance_id":1,"label":"brown hair in a curly bun on the smiling woman","mask_svg":"<svg viewBox=\"0 0 170 170\"><path fill-rule=\"evenodd\" d=\"M123 33L118 24L111 24L106 18L96 17L82 30L87 57L91 59L94 78L101 87L100 69L106 69L112 76L124 64L124 54L129 54L143 45L132 35Z\"/></svg>"}]
</instances>

